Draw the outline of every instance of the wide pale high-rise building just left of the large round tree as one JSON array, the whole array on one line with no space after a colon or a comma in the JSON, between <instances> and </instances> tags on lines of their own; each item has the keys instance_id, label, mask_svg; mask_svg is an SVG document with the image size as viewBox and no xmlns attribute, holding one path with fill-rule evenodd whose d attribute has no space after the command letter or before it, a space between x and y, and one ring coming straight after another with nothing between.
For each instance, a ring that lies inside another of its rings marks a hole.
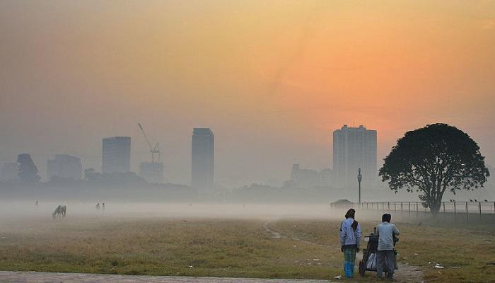
<instances>
[{"instance_id":1,"label":"wide pale high-rise building just left of the large round tree","mask_svg":"<svg viewBox=\"0 0 495 283\"><path fill-rule=\"evenodd\" d=\"M344 125L333 133L333 170L337 187L357 184L358 169L361 168L363 183L377 180L376 131Z\"/></svg>"}]
</instances>

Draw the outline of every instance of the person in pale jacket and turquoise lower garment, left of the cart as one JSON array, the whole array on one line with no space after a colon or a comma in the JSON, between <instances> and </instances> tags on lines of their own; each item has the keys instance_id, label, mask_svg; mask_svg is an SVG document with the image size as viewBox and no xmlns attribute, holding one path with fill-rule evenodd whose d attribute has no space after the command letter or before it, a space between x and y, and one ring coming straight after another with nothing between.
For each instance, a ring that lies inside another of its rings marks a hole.
<instances>
[{"instance_id":1,"label":"person in pale jacket and turquoise lower garment, left of the cart","mask_svg":"<svg viewBox=\"0 0 495 283\"><path fill-rule=\"evenodd\" d=\"M349 209L345 215L346 219L340 224L340 250L344 252L345 277L354 277L356 253L359 252L361 244L361 226L354 220L355 214L354 209Z\"/></svg>"}]
</instances>

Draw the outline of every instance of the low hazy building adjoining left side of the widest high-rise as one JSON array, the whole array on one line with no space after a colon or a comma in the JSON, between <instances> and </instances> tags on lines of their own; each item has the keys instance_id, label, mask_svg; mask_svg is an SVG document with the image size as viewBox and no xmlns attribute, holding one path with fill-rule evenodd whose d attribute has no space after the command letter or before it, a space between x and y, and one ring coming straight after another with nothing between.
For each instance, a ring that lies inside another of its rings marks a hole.
<instances>
[{"instance_id":1,"label":"low hazy building adjoining left side of the widest high-rise","mask_svg":"<svg viewBox=\"0 0 495 283\"><path fill-rule=\"evenodd\" d=\"M297 187L310 188L329 186L332 179L332 171L323 169L318 172L310 169L301 169L299 164L293 164L291 171L291 183Z\"/></svg>"}]
</instances>

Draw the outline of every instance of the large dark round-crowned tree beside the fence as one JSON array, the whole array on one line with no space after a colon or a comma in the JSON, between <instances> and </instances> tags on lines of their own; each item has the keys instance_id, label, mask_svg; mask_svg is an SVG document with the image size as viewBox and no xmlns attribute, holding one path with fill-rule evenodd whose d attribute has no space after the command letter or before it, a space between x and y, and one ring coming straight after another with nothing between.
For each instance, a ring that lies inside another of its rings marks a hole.
<instances>
[{"instance_id":1,"label":"large dark round-crowned tree beside the fence","mask_svg":"<svg viewBox=\"0 0 495 283\"><path fill-rule=\"evenodd\" d=\"M390 190L420 192L431 212L441 207L443 193L483 187L490 173L476 141L446 124L426 125L404 134L385 158L379 174Z\"/></svg>"}]
</instances>

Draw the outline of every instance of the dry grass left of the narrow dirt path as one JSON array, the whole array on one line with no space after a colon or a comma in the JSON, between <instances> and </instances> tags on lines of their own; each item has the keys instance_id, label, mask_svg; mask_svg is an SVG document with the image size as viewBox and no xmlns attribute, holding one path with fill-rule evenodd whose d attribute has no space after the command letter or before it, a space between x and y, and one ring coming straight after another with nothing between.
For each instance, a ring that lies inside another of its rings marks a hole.
<instances>
[{"instance_id":1,"label":"dry grass left of the narrow dirt path","mask_svg":"<svg viewBox=\"0 0 495 283\"><path fill-rule=\"evenodd\" d=\"M2 227L0 270L270 278L338 272L329 269L327 250L269 238L260 221L64 219L19 225ZM322 260L307 261L313 258Z\"/></svg>"}]
</instances>

